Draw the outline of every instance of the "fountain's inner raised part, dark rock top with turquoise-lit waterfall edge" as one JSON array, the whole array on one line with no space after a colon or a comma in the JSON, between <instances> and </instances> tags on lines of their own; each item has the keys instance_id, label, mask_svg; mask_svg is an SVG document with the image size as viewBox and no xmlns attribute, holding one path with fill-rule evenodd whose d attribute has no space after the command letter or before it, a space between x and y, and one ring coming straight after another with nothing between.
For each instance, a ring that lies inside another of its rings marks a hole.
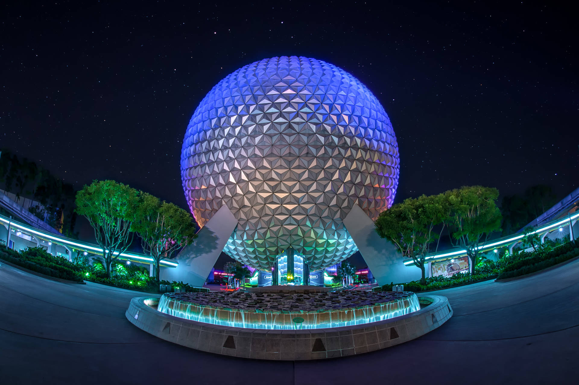
<instances>
[{"instance_id":1,"label":"fountain's inner raised part, dark rock top with turquoise-lit waterfall edge","mask_svg":"<svg viewBox=\"0 0 579 385\"><path fill-rule=\"evenodd\" d=\"M298 287L295 287L298 288ZM207 324L251 329L318 329L368 324L416 312L416 294L168 293L157 310ZM296 322L295 319L299 319Z\"/></svg>"}]
</instances>

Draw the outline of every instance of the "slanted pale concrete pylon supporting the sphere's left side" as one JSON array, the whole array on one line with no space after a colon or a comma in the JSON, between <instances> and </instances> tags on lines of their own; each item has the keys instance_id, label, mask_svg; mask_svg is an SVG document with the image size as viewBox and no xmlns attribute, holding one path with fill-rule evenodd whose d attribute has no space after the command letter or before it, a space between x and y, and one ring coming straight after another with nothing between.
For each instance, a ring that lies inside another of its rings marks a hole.
<instances>
[{"instance_id":1,"label":"slanted pale concrete pylon supporting the sphere's left side","mask_svg":"<svg viewBox=\"0 0 579 385\"><path fill-rule=\"evenodd\" d=\"M227 206L217 213L197 232L197 239L175 257L176 268L161 268L160 279L203 286L219 254L237 226L237 219Z\"/></svg>"}]
</instances>

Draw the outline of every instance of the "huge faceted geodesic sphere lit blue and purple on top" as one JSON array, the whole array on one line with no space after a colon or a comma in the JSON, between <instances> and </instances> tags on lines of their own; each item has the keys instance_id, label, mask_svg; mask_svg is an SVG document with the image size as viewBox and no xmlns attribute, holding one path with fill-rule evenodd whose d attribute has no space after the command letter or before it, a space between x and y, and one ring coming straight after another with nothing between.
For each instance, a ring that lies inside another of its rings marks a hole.
<instances>
[{"instance_id":1,"label":"huge faceted geodesic sphere lit blue and purple on top","mask_svg":"<svg viewBox=\"0 0 579 385\"><path fill-rule=\"evenodd\" d=\"M239 220L223 251L270 270L292 246L310 271L358 249L342 219L375 220L398 186L398 145L382 105L342 69L274 57L238 69L201 101L181 177L200 226L227 205Z\"/></svg>"}]
</instances>

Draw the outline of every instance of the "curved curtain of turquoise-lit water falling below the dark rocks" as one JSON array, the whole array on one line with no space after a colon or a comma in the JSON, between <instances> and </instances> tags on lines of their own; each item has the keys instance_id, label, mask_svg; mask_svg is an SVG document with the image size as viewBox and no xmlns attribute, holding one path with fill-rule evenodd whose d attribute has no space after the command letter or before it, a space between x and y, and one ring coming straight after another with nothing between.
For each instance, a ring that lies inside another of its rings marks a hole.
<instances>
[{"instance_id":1,"label":"curved curtain of turquoise-lit water falling below the dark rocks","mask_svg":"<svg viewBox=\"0 0 579 385\"><path fill-rule=\"evenodd\" d=\"M163 295L159 300L157 310L183 319L228 327L252 329L335 328L383 321L420 310L420 303L416 294L406 294L403 298L385 303L375 303L370 306L339 310L298 310L295 312L201 306Z\"/></svg>"}]
</instances>

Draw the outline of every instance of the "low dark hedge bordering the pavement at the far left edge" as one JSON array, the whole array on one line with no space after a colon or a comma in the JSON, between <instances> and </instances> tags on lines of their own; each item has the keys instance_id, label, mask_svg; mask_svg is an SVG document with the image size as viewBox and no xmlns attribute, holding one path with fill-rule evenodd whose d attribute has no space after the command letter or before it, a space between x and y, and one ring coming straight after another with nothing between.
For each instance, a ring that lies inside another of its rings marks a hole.
<instances>
[{"instance_id":1,"label":"low dark hedge bordering the pavement at the far left edge","mask_svg":"<svg viewBox=\"0 0 579 385\"><path fill-rule=\"evenodd\" d=\"M51 277L75 282L83 281L78 266L71 264L64 258L52 256L41 247L31 247L17 253L2 245L0 246L0 259Z\"/></svg>"}]
</instances>

